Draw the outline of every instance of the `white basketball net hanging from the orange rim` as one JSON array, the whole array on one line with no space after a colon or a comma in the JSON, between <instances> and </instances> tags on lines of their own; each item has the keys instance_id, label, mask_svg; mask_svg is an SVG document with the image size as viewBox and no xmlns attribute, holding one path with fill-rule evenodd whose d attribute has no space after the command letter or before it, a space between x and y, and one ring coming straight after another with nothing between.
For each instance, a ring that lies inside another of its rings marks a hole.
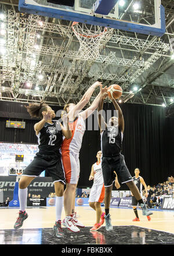
<instances>
[{"instance_id":1,"label":"white basketball net hanging from the orange rim","mask_svg":"<svg viewBox=\"0 0 174 256\"><path fill-rule=\"evenodd\" d=\"M100 50L110 40L114 30L89 24L86 26L79 22L73 22L72 29L80 44L77 59L84 61L96 60L99 57Z\"/></svg>"}]
</instances>

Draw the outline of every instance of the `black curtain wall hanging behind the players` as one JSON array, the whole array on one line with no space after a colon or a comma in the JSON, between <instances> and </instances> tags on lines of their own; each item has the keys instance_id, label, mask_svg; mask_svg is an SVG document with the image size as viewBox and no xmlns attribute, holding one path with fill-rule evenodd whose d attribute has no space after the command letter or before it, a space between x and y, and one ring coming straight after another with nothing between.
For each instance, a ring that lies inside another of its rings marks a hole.
<instances>
[{"instance_id":1,"label":"black curtain wall hanging behind the players","mask_svg":"<svg viewBox=\"0 0 174 256\"><path fill-rule=\"evenodd\" d=\"M62 109L52 106L56 111ZM122 154L131 175L135 168L146 184L151 186L166 181L174 174L174 118L165 117L165 108L141 104L121 104L125 119L125 131ZM113 104L104 104L104 110L114 110ZM24 120L26 129L6 128L6 120ZM38 122L31 119L24 104L18 102L0 103L0 141L10 143L37 143L33 126ZM96 153L100 150L99 130L88 131L88 125L80 151L81 174L78 187L91 187L89 174L96 162ZM128 189L126 185L121 190Z\"/></svg>"}]
</instances>

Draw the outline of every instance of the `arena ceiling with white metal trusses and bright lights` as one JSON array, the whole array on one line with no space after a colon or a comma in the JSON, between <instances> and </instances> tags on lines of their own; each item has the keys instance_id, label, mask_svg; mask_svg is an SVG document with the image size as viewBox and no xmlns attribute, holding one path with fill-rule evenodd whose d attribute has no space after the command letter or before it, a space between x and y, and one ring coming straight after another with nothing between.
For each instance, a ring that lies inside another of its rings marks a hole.
<instances>
[{"instance_id":1,"label":"arena ceiling with white metal trusses and bright lights","mask_svg":"<svg viewBox=\"0 0 174 256\"><path fill-rule=\"evenodd\" d=\"M88 61L76 58L79 41L72 22L19 13L18 2L0 1L1 101L63 106L78 102L99 80L104 86L119 84L122 102L163 104L169 115L174 112L173 0L162 0L166 33L161 38L114 30L99 58Z\"/></svg>"}]
</instances>

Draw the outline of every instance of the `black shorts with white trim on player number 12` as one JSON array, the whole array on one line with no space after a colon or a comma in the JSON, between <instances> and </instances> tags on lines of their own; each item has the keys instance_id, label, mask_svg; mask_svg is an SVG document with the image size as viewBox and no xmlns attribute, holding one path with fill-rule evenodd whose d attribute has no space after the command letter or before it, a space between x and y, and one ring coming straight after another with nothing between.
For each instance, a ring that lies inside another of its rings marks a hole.
<instances>
[{"instance_id":1,"label":"black shorts with white trim on player number 12","mask_svg":"<svg viewBox=\"0 0 174 256\"><path fill-rule=\"evenodd\" d=\"M52 177L53 183L63 182L66 184L61 155L43 155L38 152L24 170L23 176L38 177L44 170Z\"/></svg>"}]
</instances>

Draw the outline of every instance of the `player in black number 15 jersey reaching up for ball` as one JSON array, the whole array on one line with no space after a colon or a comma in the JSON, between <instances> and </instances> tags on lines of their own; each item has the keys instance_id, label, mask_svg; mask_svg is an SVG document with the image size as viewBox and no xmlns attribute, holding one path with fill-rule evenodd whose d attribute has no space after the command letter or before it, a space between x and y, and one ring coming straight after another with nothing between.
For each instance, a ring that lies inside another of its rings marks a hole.
<instances>
[{"instance_id":1,"label":"player in black number 15 jersey reaching up for ball","mask_svg":"<svg viewBox=\"0 0 174 256\"><path fill-rule=\"evenodd\" d=\"M144 204L142 196L140 195L139 190L137 189L135 183L133 182L132 176L129 173L129 170L125 164L124 155L121 155L122 137L124 133L124 116L122 114L121 108L119 107L115 99L113 99L113 104L115 106L115 109L118 111L118 118L116 116L113 116L109 120L108 124L104 122L102 110L104 98L106 97L107 94L104 94L102 100L100 101L98 108L98 121L101 133L102 172L105 187L104 218L106 221L106 230L110 231L113 229L113 226L111 225L109 210L111 191L115 180L114 171L117 173L118 180L120 180L122 184L126 183L126 185L131 190L132 194L135 196L136 200L139 202L140 207L143 210L143 215L148 216L153 213L148 211L146 205Z\"/></svg>"}]
</instances>

